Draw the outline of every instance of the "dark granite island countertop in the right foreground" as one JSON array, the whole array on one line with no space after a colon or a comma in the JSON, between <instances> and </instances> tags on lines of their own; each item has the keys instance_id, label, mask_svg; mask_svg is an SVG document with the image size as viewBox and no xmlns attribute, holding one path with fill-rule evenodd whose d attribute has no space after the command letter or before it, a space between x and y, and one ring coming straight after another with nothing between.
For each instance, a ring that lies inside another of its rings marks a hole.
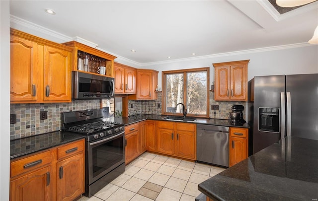
<instances>
[{"instance_id":1,"label":"dark granite island countertop in the right foreground","mask_svg":"<svg viewBox=\"0 0 318 201\"><path fill-rule=\"evenodd\" d=\"M317 201L318 140L288 136L198 189L218 201Z\"/></svg>"}]
</instances>

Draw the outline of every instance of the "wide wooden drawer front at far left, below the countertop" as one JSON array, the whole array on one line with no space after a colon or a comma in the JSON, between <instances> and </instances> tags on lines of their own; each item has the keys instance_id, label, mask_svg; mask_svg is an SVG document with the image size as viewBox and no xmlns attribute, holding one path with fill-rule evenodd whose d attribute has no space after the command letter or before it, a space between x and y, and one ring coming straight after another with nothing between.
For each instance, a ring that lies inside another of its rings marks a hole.
<instances>
[{"instance_id":1,"label":"wide wooden drawer front at far left, below the countertop","mask_svg":"<svg viewBox=\"0 0 318 201\"><path fill-rule=\"evenodd\" d=\"M10 163L10 176L29 172L52 162L51 151L45 151Z\"/></svg>"}]
</instances>

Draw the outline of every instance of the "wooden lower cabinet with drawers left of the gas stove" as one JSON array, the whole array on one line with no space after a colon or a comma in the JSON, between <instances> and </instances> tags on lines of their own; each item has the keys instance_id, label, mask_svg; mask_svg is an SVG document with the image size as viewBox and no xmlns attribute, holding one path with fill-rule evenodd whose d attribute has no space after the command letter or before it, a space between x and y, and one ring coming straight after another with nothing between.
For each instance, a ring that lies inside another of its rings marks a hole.
<instances>
[{"instance_id":1,"label":"wooden lower cabinet with drawers left of the gas stove","mask_svg":"<svg viewBox=\"0 0 318 201\"><path fill-rule=\"evenodd\" d=\"M12 159L10 201L72 201L78 198L85 191L84 143L81 139ZM75 149L59 154L59 150Z\"/></svg>"}]
</instances>

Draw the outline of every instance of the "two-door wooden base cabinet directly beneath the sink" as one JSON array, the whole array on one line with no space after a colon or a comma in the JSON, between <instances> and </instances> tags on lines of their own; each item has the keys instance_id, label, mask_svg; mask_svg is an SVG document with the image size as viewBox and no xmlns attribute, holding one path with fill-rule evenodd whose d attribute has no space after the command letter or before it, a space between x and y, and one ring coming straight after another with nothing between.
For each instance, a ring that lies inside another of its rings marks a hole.
<instances>
[{"instance_id":1,"label":"two-door wooden base cabinet directly beneath the sink","mask_svg":"<svg viewBox=\"0 0 318 201\"><path fill-rule=\"evenodd\" d=\"M196 160L196 125L158 121L157 152Z\"/></svg>"}]
</instances>

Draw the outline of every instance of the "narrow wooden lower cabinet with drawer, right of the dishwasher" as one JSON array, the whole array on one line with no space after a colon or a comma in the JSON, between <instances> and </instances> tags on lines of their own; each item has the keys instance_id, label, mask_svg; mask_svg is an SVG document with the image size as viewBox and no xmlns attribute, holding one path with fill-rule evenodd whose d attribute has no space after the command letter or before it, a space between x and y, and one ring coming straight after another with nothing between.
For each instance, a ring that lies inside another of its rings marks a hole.
<instances>
[{"instance_id":1,"label":"narrow wooden lower cabinet with drawer, right of the dishwasher","mask_svg":"<svg viewBox=\"0 0 318 201\"><path fill-rule=\"evenodd\" d=\"M230 127L230 167L248 157L248 129Z\"/></svg>"}]
</instances>

